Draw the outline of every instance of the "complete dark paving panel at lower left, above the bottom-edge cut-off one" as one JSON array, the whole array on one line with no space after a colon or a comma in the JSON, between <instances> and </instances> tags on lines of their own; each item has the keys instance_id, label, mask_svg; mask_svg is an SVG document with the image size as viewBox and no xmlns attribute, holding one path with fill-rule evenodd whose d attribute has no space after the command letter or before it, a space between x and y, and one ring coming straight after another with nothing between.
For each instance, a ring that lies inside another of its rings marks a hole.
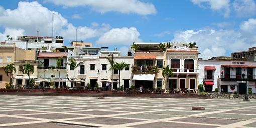
<instances>
[{"instance_id":1,"label":"complete dark paving panel at lower left, above the bottom-edge cut-off one","mask_svg":"<svg viewBox=\"0 0 256 128\"><path fill-rule=\"evenodd\" d=\"M23 116L35 117L35 118L47 118L47 119L62 119L62 118L83 117L83 116L86 116L86 115L51 113L51 114L33 114L33 115L23 115Z\"/></svg>"}]
</instances>

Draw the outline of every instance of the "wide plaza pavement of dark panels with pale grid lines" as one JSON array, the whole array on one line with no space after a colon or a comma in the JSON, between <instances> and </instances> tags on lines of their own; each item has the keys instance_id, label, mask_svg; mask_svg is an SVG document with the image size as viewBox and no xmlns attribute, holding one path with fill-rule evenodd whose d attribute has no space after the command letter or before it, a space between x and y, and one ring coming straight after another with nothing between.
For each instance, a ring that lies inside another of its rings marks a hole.
<instances>
[{"instance_id":1,"label":"wide plaza pavement of dark panels with pale grid lines","mask_svg":"<svg viewBox=\"0 0 256 128\"><path fill-rule=\"evenodd\" d=\"M2 127L256 127L256 100L1 95Z\"/></svg>"}]
</instances>

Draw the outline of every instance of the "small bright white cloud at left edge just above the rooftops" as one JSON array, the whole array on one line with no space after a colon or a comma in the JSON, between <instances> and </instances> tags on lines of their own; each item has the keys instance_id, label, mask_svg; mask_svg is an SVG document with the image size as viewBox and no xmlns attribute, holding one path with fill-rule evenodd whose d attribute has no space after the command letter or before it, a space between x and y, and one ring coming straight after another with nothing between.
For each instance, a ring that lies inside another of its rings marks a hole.
<instances>
[{"instance_id":1,"label":"small bright white cloud at left edge just above the rooftops","mask_svg":"<svg viewBox=\"0 0 256 128\"><path fill-rule=\"evenodd\" d=\"M23 29L10 29L10 28L6 28L5 32L0 33L0 42L8 40L7 39L7 35L9 35L9 38L14 38L17 39L18 36L23 36L25 35L25 32Z\"/></svg>"}]
</instances>

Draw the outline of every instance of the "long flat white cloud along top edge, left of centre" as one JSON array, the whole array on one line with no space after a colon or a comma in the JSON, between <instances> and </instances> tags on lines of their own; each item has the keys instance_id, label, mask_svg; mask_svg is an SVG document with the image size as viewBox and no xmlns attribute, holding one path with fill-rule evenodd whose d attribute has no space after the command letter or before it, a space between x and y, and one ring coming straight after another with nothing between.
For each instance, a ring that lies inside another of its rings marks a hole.
<instances>
[{"instance_id":1,"label":"long flat white cloud along top edge, left of centre","mask_svg":"<svg viewBox=\"0 0 256 128\"><path fill-rule=\"evenodd\" d=\"M120 12L124 14L136 13L139 15L156 14L156 8L152 3L145 3L139 0L45 0L63 7L91 7L99 13Z\"/></svg>"}]
</instances>

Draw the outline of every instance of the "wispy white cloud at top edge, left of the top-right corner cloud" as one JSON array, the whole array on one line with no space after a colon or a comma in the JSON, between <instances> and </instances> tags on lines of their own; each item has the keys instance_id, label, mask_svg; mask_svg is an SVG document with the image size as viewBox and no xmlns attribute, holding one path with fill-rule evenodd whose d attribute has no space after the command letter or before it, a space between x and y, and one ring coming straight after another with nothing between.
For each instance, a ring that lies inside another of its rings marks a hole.
<instances>
[{"instance_id":1,"label":"wispy white cloud at top edge, left of the top-right corner cloud","mask_svg":"<svg viewBox=\"0 0 256 128\"><path fill-rule=\"evenodd\" d=\"M213 11L223 12L224 17L230 13L229 0L190 0L193 4L201 8L209 8Z\"/></svg>"}]
</instances>

